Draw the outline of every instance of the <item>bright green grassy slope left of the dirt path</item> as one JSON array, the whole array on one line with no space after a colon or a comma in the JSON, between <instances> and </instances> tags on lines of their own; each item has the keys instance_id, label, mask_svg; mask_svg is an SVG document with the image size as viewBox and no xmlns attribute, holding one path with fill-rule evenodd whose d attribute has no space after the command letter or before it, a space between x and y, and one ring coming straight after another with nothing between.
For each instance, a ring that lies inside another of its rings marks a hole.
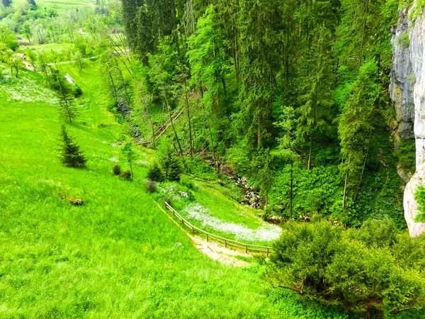
<instances>
[{"instance_id":1,"label":"bright green grassy slope left of the dirt path","mask_svg":"<svg viewBox=\"0 0 425 319\"><path fill-rule=\"evenodd\" d=\"M91 77L86 89L98 85ZM112 176L120 130L101 104L86 103L86 125L67 124L89 157L78 170L57 159L62 120L50 100L8 99L0 89L0 318L327 318L276 291L273 306L258 267L200 254L143 190L144 167L133 183Z\"/></svg>"}]
</instances>

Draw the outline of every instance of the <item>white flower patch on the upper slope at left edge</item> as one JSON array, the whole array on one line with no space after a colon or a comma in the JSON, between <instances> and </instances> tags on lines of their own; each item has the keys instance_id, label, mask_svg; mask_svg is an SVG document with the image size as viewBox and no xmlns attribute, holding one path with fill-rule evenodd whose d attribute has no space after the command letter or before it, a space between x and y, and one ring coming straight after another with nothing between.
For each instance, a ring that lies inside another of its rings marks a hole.
<instances>
[{"instance_id":1,"label":"white flower patch on the upper slope at left edge","mask_svg":"<svg viewBox=\"0 0 425 319\"><path fill-rule=\"evenodd\" d=\"M8 79L4 85L0 86L0 91L8 96L8 101L46 102L54 106L59 103L54 91L40 86L33 79Z\"/></svg>"}]
</instances>

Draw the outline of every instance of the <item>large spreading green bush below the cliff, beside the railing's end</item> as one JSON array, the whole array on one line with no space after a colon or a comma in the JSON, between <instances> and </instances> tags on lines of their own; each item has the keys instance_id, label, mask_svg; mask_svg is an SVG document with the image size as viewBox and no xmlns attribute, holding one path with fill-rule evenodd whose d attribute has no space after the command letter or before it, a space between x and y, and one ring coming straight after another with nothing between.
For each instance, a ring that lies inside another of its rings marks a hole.
<instances>
[{"instance_id":1,"label":"large spreading green bush below the cliff, beside the railing's end","mask_svg":"<svg viewBox=\"0 0 425 319\"><path fill-rule=\"evenodd\" d=\"M285 228L266 273L272 286L364 318L425 307L425 237L395 236L390 220L360 230L323 220Z\"/></svg>"}]
</instances>

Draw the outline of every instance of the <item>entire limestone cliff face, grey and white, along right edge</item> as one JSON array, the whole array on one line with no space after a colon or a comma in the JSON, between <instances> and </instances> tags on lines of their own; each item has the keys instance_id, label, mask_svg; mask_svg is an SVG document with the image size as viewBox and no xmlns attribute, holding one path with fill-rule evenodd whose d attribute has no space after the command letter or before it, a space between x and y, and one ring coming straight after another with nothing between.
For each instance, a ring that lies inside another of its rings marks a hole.
<instances>
[{"instance_id":1,"label":"entire limestone cliff face, grey and white, along right edge","mask_svg":"<svg viewBox=\"0 0 425 319\"><path fill-rule=\"evenodd\" d=\"M416 144L416 172L404 189L404 218L412 237L425 232L425 223L415 223L417 203L414 193L425 185L425 16L422 11L414 22L409 10L400 11L397 28L393 30L393 60L390 94L397 114L399 138L410 138ZM413 107L412 107L413 101Z\"/></svg>"}]
</instances>

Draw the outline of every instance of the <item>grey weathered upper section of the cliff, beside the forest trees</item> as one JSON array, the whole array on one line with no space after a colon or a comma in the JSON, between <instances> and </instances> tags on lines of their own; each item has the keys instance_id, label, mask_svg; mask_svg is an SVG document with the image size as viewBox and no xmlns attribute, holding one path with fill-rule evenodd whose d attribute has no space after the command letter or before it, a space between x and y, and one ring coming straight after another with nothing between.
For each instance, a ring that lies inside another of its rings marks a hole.
<instances>
[{"instance_id":1,"label":"grey weathered upper section of the cliff, beside the forest trees","mask_svg":"<svg viewBox=\"0 0 425 319\"><path fill-rule=\"evenodd\" d=\"M397 27L392 30L392 69L390 97L396 111L395 134L403 139L414 138L414 74L410 59L409 12L400 11Z\"/></svg>"}]
</instances>

